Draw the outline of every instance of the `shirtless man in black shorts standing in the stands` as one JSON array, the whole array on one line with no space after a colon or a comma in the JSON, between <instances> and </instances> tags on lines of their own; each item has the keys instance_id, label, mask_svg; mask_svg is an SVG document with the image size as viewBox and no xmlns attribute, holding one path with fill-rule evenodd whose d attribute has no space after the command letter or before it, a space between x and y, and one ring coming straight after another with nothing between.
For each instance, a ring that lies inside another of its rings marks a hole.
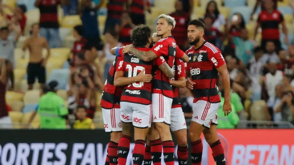
<instances>
[{"instance_id":1,"label":"shirtless man in black shorts standing in the stands","mask_svg":"<svg viewBox=\"0 0 294 165\"><path fill-rule=\"evenodd\" d=\"M45 66L50 57L50 48L46 38L39 36L39 24L34 23L31 28L31 36L24 41L24 46L22 48L23 51L26 51L26 49L29 49L30 51L29 65L27 68L29 90L33 89L36 77L41 84L41 89L45 86ZM43 58L42 55L43 48L47 49L47 55L45 58Z\"/></svg>"}]
</instances>

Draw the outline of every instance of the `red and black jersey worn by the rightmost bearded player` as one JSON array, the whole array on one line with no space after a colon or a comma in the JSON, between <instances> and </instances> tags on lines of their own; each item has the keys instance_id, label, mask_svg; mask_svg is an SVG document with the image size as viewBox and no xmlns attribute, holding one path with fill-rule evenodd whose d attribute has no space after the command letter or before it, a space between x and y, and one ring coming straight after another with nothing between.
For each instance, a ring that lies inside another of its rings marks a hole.
<instances>
[{"instance_id":1,"label":"red and black jersey worn by the rightmost bearded player","mask_svg":"<svg viewBox=\"0 0 294 165\"><path fill-rule=\"evenodd\" d=\"M220 50L209 42L204 42L199 48L194 46L186 51L189 56L187 72L191 73L195 83L192 93L194 102L205 100L211 103L220 102L220 96L216 87L218 71L216 68L225 64Z\"/></svg>"}]
</instances>

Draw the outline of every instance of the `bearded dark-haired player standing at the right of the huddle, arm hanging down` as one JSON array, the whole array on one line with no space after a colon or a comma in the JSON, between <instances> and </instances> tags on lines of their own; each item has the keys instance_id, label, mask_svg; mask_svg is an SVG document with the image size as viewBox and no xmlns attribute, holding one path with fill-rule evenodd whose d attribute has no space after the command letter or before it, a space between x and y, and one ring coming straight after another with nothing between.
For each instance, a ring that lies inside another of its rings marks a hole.
<instances>
[{"instance_id":1,"label":"bearded dark-haired player standing at the right of the huddle, arm hanging down","mask_svg":"<svg viewBox=\"0 0 294 165\"><path fill-rule=\"evenodd\" d=\"M216 86L218 73L224 85L225 102L223 112L225 116L231 112L230 76L220 50L203 39L204 24L199 20L192 20L188 24L188 38L190 45L186 51L189 56L187 63L186 87L192 90L193 117L190 124L189 137L192 146L192 165L200 165L203 144L201 134L211 147L216 165L225 165L224 149L216 132L217 110L220 106L220 95ZM190 80L191 78L191 80Z\"/></svg>"}]
</instances>

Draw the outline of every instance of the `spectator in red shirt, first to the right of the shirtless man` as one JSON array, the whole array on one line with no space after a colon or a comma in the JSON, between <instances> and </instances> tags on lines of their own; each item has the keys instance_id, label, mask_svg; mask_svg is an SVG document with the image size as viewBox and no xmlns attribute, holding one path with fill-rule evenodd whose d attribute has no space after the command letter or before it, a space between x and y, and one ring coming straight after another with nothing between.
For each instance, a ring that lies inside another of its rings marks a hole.
<instances>
[{"instance_id":1,"label":"spectator in red shirt, first to the right of the shirtless man","mask_svg":"<svg viewBox=\"0 0 294 165\"><path fill-rule=\"evenodd\" d=\"M74 42L74 47L71 50L73 57L71 59L69 59L70 60L69 64L71 66L75 65L77 54L81 53L84 50L84 46L87 42L87 40L85 38L83 38L82 36L83 36L83 26L81 26L81 25L75 26L74 27L75 42Z\"/></svg>"}]
</instances>

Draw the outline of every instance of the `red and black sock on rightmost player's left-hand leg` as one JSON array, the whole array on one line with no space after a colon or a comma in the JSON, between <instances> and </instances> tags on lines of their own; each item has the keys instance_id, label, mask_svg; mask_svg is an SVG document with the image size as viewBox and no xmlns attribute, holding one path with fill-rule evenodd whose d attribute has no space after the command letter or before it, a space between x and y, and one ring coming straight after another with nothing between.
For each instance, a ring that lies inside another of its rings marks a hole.
<instances>
[{"instance_id":1,"label":"red and black sock on rightmost player's left-hand leg","mask_svg":"<svg viewBox=\"0 0 294 165\"><path fill-rule=\"evenodd\" d=\"M203 150L202 140L199 139L197 141L191 142L191 146L192 146L192 153L191 153L192 165L201 165L202 150Z\"/></svg>"}]
</instances>

